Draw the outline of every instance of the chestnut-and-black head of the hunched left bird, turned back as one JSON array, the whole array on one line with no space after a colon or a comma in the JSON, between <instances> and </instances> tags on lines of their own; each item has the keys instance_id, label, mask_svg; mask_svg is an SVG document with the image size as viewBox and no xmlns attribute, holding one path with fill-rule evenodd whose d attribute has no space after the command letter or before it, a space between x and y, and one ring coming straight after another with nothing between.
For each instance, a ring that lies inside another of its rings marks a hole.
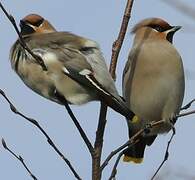
<instances>
[{"instance_id":1,"label":"chestnut-and-black head of the hunched left bird, turned back","mask_svg":"<svg viewBox=\"0 0 195 180\"><path fill-rule=\"evenodd\" d=\"M29 14L20 20L22 35L55 32L55 28L43 17L37 14Z\"/></svg>"}]
</instances>

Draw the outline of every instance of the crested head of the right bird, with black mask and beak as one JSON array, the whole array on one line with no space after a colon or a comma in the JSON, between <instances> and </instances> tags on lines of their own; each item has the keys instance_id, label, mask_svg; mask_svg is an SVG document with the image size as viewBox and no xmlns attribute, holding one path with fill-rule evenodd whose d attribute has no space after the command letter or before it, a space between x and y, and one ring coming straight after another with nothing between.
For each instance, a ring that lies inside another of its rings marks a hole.
<instances>
[{"instance_id":1,"label":"crested head of the right bird, with black mask and beak","mask_svg":"<svg viewBox=\"0 0 195 180\"><path fill-rule=\"evenodd\" d=\"M132 33L143 38L145 33L148 32L147 37L149 38L165 39L172 43L174 33L180 28L181 26L171 26L160 18L148 18L136 24L132 29Z\"/></svg>"}]
</instances>

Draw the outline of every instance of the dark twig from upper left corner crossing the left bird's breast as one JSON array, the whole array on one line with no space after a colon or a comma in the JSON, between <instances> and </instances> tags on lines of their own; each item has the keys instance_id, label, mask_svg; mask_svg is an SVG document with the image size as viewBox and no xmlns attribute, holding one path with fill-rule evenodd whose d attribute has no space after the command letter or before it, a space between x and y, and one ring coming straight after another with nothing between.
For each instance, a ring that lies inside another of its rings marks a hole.
<instances>
[{"instance_id":1,"label":"dark twig from upper left corner crossing the left bird's breast","mask_svg":"<svg viewBox=\"0 0 195 180\"><path fill-rule=\"evenodd\" d=\"M20 42L21 46L22 46L26 51L28 51L28 53L37 61L37 63L42 67L42 69L43 69L44 71L46 71L46 70L47 70L47 67L46 67L45 64L44 64L43 59L42 59L40 56L35 55L35 54L28 48L27 44L25 43L24 39L22 38L22 35L21 35L20 31L18 30L18 27L17 27L17 25L16 25L16 21L15 21L14 17L6 11L6 9L4 8L4 6L2 5L1 2L0 2L0 8L1 8L2 11L4 12L4 14L6 15L6 17L9 19L9 21L10 21L11 24L13 25L13 27L14 27L16 33L18 34L19 42Z\"/></svg>"}]
</instances>

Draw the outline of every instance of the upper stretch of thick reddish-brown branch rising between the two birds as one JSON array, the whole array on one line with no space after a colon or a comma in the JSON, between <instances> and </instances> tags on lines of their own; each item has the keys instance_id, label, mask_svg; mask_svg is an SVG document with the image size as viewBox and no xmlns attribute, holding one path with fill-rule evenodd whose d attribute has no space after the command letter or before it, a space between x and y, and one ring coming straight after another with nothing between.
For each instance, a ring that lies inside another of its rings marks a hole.
<instances>
[{"instance_id":1,"label":"upper stretch of thick reddish-brown branch rising between the two birds","mask_svg":"<svg viewBox=\"0 0 195 180\"><path fill-rule=\"evenodd\" d=\"M120 50L121 50L121 47L122 47L122 44L123 44L123 40L125 38L125 34L126 34L128 23L129 23L129 19L131 17L133 2L134 2L134 0L128 0L127 1L118 38L112 45L112 57L111 57L111 63L110 63L110 74L112 75L114 80L116 80L115 71L116 71L117 60L118 60L118 56L119 56L119 53L120 53Z\"/></svg>"}]
</instances>

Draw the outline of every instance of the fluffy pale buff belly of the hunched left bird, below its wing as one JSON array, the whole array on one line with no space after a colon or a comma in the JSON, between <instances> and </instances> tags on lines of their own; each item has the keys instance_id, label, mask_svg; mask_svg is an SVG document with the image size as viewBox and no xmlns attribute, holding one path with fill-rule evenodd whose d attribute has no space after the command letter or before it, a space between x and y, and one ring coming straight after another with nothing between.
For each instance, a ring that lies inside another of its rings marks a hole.
<instances>
[{"instance_id":1,"label":"fluffy pale buff belly of the hunched left bird, below its wing","mask_svg":"<svg viewBox=\"0 0 195 180\"><path fill-rule=\"evenodd\" d=\"M27 61L18 66L18 74L23 82L39 95L62 104L55 96L57 90L70 104L84 104L95 100L90 90L84 89L77 82L59 72L43 71L42 67Z\"/></svg>"}]
</instances>

